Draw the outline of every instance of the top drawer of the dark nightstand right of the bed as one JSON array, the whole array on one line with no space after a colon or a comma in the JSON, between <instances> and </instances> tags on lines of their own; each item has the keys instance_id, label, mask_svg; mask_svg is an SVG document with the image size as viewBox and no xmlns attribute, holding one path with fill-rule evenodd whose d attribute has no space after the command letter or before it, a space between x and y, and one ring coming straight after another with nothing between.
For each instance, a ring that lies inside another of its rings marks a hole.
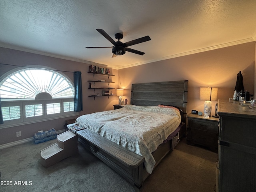
<instances>
[{"instance_id":1,"label":"top drawer of the dark nightstand right of the bed","mask_svg":"<svg viewBox=\"0 0 256 192\"><path fill-rule=\"evenodd\" d=\"M203 131L208 131L208 132L218 134L218 124L216 124L216 122L214 122L214 121L212 122L209 120L189 118L188 119L188 128L203 130Z\"/></svg>"}]
</instances>

